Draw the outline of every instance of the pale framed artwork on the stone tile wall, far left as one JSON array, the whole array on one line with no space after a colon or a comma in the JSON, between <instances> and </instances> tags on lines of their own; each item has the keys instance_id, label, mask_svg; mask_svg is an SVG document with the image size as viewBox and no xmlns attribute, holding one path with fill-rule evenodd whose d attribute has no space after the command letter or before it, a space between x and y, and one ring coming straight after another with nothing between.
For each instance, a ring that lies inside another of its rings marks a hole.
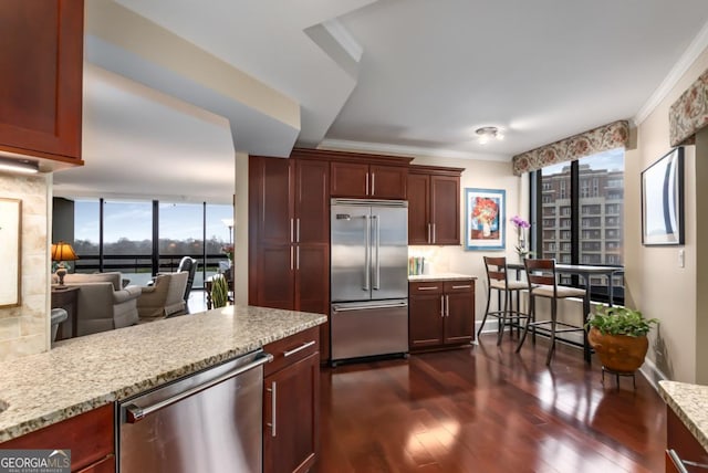
<instances>
[{"instance_id":1,"label":"pale framed artwork on the stone tile wall, far left","mask_svg":"<svg viewBox=\"0 0 708 473\"><path fill-rule=\"evenodd\" d=\"M22 201L0 197L0 261L2 262L0 307L20 305L21 219Z\"/></svg>"}]
</instances>

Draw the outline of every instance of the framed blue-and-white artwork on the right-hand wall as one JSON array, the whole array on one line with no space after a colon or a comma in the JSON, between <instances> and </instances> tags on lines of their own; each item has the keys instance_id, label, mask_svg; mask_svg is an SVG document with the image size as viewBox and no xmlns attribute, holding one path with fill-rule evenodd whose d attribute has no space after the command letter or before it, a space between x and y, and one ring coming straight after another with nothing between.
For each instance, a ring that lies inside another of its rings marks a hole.
<instances>
[{"instance_id":1,"label":"framed blue-and-white artwork on the right-hand wall","mask_svg":"<svg viewBox=\"0 0 708 473\"><path fill-rule=\"evenodd\" d=\"M684 148L642 171L642 244L684 244Z\"/></svg>"}]
</instances>

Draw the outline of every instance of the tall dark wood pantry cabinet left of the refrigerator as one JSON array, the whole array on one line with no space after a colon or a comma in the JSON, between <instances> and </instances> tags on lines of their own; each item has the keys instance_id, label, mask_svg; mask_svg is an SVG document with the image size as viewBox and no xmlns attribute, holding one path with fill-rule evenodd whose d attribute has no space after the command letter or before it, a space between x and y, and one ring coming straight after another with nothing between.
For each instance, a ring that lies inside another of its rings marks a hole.
<instances>
[{"instance_id":1,"label":"tall dark wood pantry cabinet left of the refrigerator","mask_svg":"<svg viewBox=\"0 0 708 473\"><path fill-rule=\"evenodd\" d=\"M249 175L249 304L329 314L329 161L253 156Z\"/></svg>"}]
</instances>

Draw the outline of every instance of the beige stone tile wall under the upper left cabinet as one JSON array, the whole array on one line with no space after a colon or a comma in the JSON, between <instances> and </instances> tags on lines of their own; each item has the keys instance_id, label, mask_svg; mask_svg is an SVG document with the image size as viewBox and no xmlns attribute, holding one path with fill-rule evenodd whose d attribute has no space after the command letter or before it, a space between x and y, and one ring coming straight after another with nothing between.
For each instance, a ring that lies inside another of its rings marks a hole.
<instances>
[{"instance_id":1,"label":"beige stone tile wall under the upper left cabinet","mask_svg":"<svg viewBox=\"0 0 708 473\"><path fill-rule=\"evenodd\" d=\"M22 200L21 305L0 308L0 360L49 348L49 199L51 175L0 174L0 197ZM0 262L0 271L2 271ZM2 274L4 277L14 275Z\"/></svg>"}]
</instances>

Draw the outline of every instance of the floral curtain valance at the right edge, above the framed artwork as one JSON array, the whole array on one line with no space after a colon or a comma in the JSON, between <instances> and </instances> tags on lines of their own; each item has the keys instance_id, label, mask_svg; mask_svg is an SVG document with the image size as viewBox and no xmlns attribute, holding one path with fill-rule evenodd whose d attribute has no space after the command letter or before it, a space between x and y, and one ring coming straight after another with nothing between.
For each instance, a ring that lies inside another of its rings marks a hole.
<instances>
[{"instance_id":1,"label":"floral curtain valance at the right edge, above the framed artwork","mask_svg":"<svg viewBox=\"0 0 708 473\"><path fill-rule=\"evenodd\" d=\"M668 124L671 146L695 143L696 132L708 125L708 71L674 102Z\"/></svg>"}]
</instances>

